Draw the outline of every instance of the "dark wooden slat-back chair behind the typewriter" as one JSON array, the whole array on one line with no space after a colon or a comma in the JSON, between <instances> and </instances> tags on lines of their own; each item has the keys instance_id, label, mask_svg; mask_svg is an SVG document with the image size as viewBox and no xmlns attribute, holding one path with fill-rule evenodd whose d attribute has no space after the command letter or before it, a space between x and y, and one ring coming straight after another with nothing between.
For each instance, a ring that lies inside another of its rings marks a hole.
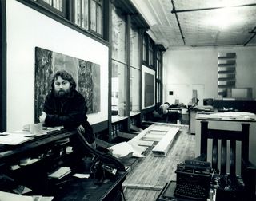
<instances>
[{"instance_id":1,"label":"dark wooden slat-back chair behind the typewriter","mask_svg":"<svg viewBox=\"0 0 256 201\"><path fill-rule=\"evenodd\" d=\"M246 186L245 196L248 196L244 200L254 200L256 167L249 161L250 124L241 124L241 126L241 131L210 129L208 128L208 121L201 121L201 154L197 160L207 160L207 149L209 150L208 147L210 147L207 142L208 139L212 139L212 150L210 151L212 168L218 169L223 175L229 173L230 176L235 176L237 164L241 165L241 176ZM241 146L237 146L237 141L241 142ZM220 148L218 148L219 146ZM237 147L241 148L239 152ZM241 160L236 161L236 155L240 152Z\"/></svg>"}]
</instances>

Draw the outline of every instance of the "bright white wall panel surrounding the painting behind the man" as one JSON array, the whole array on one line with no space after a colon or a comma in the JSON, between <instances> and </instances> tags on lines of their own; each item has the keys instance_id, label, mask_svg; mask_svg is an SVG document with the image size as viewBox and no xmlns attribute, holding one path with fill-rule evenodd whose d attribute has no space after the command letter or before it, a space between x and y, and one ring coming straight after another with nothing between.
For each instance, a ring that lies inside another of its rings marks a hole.
<instances>
[{"instance_id":1,"label":"bright white wall panel surrounding the painting behind the man","mask_svg":"<svg viewBox=\"0 0 256 201\"><path fill-rule=\"evenodd\" d=\"M35 47L77 57L101 67L101 111L90 124L108 119L108 46L86 37L15 0L6 1L7 130L34 123Z\"/></svg>"}]
</instances>

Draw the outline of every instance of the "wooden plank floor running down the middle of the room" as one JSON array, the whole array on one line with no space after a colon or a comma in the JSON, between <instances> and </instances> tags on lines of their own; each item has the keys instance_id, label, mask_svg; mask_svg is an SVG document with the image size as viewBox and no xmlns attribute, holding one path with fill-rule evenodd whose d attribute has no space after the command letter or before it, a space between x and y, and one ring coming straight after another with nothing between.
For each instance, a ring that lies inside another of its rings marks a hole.
<instances>
[{"instance_id":1,"label":"wooden plank floor running down the middle of the room","mask_svg":"<svg viewBox=\"0 0 256 201\"><path fill-rule=\"evenodd\" d=\"M176 180L176 166L186 159L194 158L194 135L188 126L182 126L165 157L149 152L131 171L123 183L126 201L153 201L162 187L170 180Z\"/></svg>"}]
</instances>

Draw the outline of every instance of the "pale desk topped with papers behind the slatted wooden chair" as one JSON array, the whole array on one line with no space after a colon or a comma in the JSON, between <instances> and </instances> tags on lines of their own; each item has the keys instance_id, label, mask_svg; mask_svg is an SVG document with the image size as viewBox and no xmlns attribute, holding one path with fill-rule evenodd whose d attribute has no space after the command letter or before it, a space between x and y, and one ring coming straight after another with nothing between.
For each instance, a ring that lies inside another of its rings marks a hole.
<instances>
[{"instance_id":1,"label":"pale desk topped with papers behind the slatted wooden chair","mask_svg":"<svg viewBox=\"0 0 256 201\"><path fill-rule=\"evenodd\" d=\"M201 141L201 124L202 120L209 122L209 128L217 128L222 130L241 130L241 124L250 124L250 141L249 141L249 160L255 164L255 144L256 144L256 116L248 118L247 116L238 116L236 118L230 116L221 116L221 113L214 114L197 114L195 123L195 156L200 155L200 141ZM238 168L239 169L239 168Z\"/></svg>"}]
</instances>

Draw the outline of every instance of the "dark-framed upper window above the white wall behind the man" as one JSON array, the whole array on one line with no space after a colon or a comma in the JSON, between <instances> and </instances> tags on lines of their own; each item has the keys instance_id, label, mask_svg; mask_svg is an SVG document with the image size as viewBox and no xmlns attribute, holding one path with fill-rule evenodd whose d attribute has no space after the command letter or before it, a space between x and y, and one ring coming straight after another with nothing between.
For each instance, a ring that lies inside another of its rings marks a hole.
<instances>
[{"instance_id":1,"label":"dark-framed upper window above the white wall behind the man","mask_svg":"<svg viewBox=\"0 0 256 201\"><path fill-rule=\"evenodd\" d=\"M34 0L34 2L70 20L82 29L103 37L104 0Z\"/></svg>"}]
</instances>

